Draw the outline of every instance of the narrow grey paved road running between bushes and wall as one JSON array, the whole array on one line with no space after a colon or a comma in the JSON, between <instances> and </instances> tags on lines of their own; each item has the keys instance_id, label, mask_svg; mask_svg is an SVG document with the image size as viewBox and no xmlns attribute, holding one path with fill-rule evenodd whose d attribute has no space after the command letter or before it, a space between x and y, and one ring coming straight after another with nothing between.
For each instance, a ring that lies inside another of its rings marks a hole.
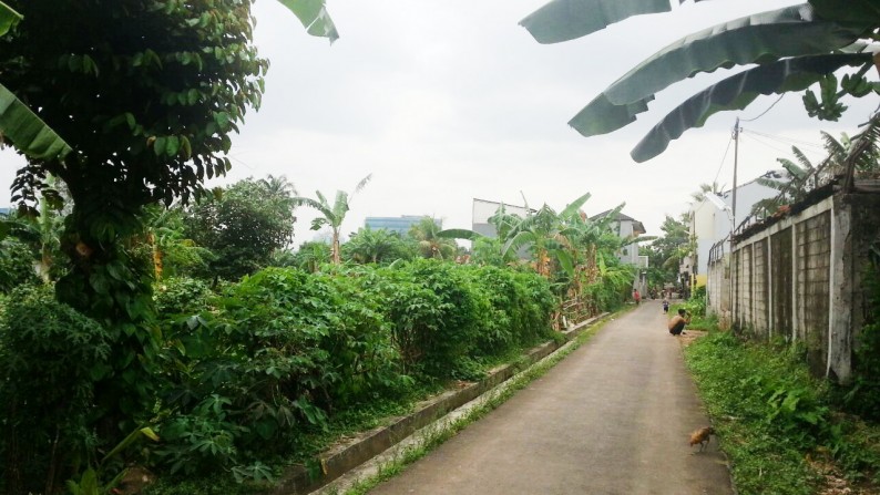
<instances>
[{"instance_id":1,"label":"narrow grey paved road running between bushes and wall","mask_svg":"<svg viewBox=\"0 0 880 495\"><path fill-rule=\"evenodd\" d=\"M498 410L371 494L733 494L657 301L606 324Z\"/></svg>"}]
</instances>

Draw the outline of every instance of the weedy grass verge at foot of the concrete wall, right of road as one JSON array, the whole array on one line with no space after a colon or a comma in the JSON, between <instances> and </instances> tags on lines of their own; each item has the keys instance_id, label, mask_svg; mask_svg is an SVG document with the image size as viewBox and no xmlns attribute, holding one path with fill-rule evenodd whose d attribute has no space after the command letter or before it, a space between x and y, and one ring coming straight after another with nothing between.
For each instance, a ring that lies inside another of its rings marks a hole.
<instances>
[{"instance_id":1,"label":"weedy grass verge at foot of the concrete wall, right of road","mask_svg":"<svg viewBox=\"0 0 880 495\"><path fill-rule=\"evenodd\" d=\"M797 347L712 331L685 360L740 494L880 493L880 426L835 411Z\"/></svg>"}]
</instances>

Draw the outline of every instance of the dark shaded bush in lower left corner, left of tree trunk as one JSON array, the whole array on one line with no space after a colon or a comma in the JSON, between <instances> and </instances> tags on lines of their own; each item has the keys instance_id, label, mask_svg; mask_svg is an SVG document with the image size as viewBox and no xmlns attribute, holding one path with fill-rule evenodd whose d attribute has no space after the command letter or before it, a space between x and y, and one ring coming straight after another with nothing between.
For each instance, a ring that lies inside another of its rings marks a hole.
<instances>
[{"instance_id":1,"label":"dark shaded bush in lower left corner, left of tree trunk","mask_svg":"<svg viewBox=\"0 0 880 495\"><path fill-rule=\"evenodd\" d=\"M8 493L58 486L93 463L103 408L96 388L111 372L112 339L96 321L55 301L51 289L12 291L0 314L0 452Z\"/></svg>"}]
</instances>

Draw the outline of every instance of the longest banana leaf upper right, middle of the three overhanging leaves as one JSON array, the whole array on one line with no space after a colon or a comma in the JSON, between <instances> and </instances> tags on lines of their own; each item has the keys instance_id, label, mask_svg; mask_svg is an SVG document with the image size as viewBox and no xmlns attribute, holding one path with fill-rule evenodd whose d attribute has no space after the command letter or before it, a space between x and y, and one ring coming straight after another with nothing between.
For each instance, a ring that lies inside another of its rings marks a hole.
<instances>
[{"instance_id":1,"label":"longest banana leaf upper right, middle of the three overhanging leaves","mask_svg":"<svg viewBox=\"0 0 880 495\"><path fill-rule=\"evenodd\" d=\"M674 82L720 68L826 54L851 44L870 29L869 23L816 19L806 3L725 22L655 53L603 91L569 125L584 136L616 131L633 122L654 93Z\"/></svg>"}]
</instances>

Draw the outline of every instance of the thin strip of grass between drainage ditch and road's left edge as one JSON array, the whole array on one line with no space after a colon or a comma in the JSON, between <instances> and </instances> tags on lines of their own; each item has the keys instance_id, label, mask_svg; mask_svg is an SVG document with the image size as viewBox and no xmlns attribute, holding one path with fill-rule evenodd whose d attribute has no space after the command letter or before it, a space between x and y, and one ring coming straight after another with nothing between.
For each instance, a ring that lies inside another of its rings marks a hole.
<instances>
[{"instance_id":1,"label":"thin strip of grass between drainage ditch and road's left edge","mask_svg":"<svg viewBox=\"0 0 880 495\"><path fill-rule=\"evenodd\" d=\"M407 466L416 461L426 456L429 452L433 451L439 445L443 444L449 439L456 436L460 431L464 430L471 423L484 417L490 412L494 411L498 406L508 401L516 392L524 389L535 379L544 375L549 370L555 367L560 361L565 359L570 353L575 351L586 341L589 341L605 322L616 317L617 313L607 316L602 320L593 323L590 329L583 331L574 338L569 344L560 348L556 352L550 354L548 358L539 361L535 365L526 369L525 371L514 375L504 384L484 394L482 402L479 405L471 408L463 415L442 424L441 426L432 426L423 431L423 436L416 444L402 448L390 462L383 463L379 466L375 475L368 476L364 479L356 482L350 488L345 492L339 492L337 488L328 487L324 493L345 495L364 495L370 489L375 488L380 483L390 479L400 474ZM441 422L442 423L442 420Z\"/></svg>"}]
</instances>

